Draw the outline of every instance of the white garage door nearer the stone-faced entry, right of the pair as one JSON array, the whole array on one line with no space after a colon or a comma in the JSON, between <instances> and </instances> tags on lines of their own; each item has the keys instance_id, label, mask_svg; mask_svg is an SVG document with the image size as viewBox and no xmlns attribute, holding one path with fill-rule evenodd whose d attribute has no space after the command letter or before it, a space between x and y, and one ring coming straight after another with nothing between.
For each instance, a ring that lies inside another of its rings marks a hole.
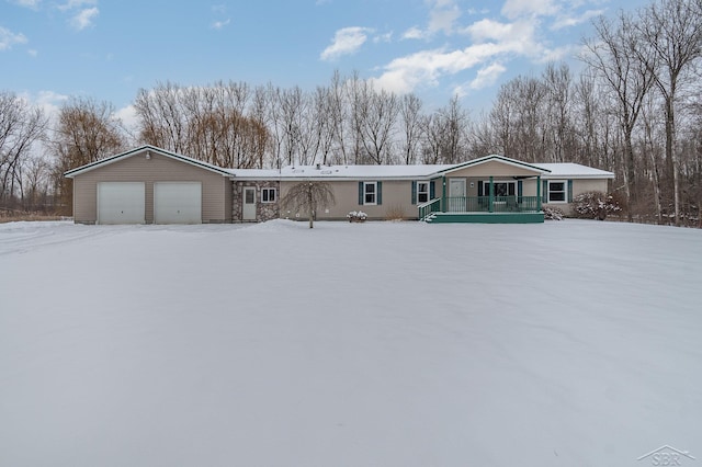
<instances>
[{"instance_id":1,"label":"white garage door nearer the stone-faced entry, right of the pair","mask_svg":"<svg viewBox=\"0 0 702 467\"><path fill-rule=\"evenodd\" d=\"M201 224L202 183L155 183L154 219L156 224Z\"/></svg>"}]
</instances>

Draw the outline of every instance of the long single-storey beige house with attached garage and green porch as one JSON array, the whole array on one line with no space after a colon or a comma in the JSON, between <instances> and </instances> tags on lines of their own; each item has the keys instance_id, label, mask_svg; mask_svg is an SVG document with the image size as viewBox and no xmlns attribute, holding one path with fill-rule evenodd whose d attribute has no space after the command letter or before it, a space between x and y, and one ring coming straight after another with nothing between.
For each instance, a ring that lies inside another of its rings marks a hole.
<instances>
[{"instance_id":1,"label":"long single-storey beige house with attached garage and green porch","mask_svg":"<svg viewBox=\"0 0 702 467\"><path fill-rule=\"evenodd\" d=\"M433 223L543 223L543 207L569 213L574 196L608 191L614 174L576 163L531 164L486 156L457 164L308 166L226 169L143 146L69 170L73 219L81 224L247 223L305 218L281 212L302 181L328 182L336 204L317 219Z\"/></svg>"}]
</instances>

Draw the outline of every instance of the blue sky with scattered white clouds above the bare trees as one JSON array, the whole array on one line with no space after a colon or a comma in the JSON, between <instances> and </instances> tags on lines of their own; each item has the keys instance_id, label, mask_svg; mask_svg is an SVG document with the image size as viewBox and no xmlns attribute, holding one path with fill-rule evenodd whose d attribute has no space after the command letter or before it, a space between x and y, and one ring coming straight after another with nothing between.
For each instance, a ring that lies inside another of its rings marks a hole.
<instances>
[{"instance_id":1,"label":"blue sky with scattered white clouds above the bare trees","mask_svg":"<svg viewBox=\"0 0 702 467\"><path fill-rule=\"evenodd\" d=\"M427 106L571 61L590 21L644 0L0 0L0 90L126 109L140 88L217 80L312 90L358 72ZM575 68L574 68L575 69Z\"/></svg>"}]
</instances>

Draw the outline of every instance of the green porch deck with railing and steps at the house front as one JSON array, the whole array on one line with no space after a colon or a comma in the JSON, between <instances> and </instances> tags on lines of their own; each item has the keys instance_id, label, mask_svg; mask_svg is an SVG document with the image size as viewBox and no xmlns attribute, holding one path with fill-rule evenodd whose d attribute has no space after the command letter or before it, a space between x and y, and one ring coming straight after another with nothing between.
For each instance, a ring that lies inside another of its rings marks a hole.
<instances>
[{"instance_id":1,"label":"green porch deck with railing and steps at the house front","mask_svg":"<svg viewBox=\"0 0 702 467\"><path fill-rule=\"evenodd\" d=\"M544 221L540 196L453 196L418 206L426 223L536 224Z\"/></svg>"}]
</instances>

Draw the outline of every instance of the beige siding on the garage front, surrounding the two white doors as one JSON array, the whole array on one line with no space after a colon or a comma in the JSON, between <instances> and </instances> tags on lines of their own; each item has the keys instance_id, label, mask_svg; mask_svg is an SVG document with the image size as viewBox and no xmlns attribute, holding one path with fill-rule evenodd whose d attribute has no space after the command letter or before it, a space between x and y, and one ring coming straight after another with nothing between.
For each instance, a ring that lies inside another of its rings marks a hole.
<instances>
[{"instance_id":1,"label":"beige siding on the garage front, surrounding the two white doors","mask_svg":"<svg viewBox=\"0 0 702 467\"><path fill-rule=\"evenodd\" d=\"M73 219L94 224L98 217L98 182L145 182L146 223L154 223L155 182L201 182L202 220L231 220L231 182L226 176L186 162L146 150L123 160L87 171L73 179Z\"/></svg>"}]
</instances>

